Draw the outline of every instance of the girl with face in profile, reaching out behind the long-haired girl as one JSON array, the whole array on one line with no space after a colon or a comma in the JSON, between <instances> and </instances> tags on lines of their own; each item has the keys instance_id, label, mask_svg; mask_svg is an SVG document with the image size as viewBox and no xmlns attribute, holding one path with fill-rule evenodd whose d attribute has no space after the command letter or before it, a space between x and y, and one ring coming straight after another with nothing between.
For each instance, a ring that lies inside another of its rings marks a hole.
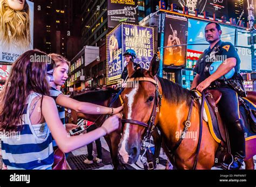
<instances>
[{"instance_id":1,"label":"girl with face in profile, reaching out behind the long-haired girl","mask_svg":"<svg viewBox=\"0 0 256 187\"><path fill-rule=\"evenodd\" d=\"M61 87L68 78L68 71L70 62L59 54L49 54L51 63L48 64L47 75L50 80L50 95L55 100L59 117L62 120L62 123L65 124L65 108L75 110L76 112L82 112L87 114L116 114L119 113L123 106L118 107L117 109L99 106L91 103L79 102L75 99L66 97L58 87ZM75 124L65 124L67 132L73 128L77 128Z\"/></svg>"}]
</instances>

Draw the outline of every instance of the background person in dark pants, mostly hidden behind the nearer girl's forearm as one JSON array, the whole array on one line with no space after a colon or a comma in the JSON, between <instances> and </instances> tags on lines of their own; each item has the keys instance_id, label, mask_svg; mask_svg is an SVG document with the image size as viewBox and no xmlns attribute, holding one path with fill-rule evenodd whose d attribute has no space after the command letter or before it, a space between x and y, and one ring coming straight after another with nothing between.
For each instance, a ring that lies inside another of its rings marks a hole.
<instances>
[{"instance_id":1,"label":"background person in dark pants, mostly hidden behind the nearer girl's forearm","mask_svg":"<svg viewBox=\"0 0 256 187\"><path fill-rule=\"evenodd\" d=\"M86 126L86 133L94 131L97 128L95 123L93 123L91 121L84 120L84 123L85 123L85 126ZM97 148L97 157L96 157L95 161L97 163L100 163L100 162L102 162L102 142L100 142L100 139L97 139L97 140L95 140L95 143L96 143L96 148ZM93 145L92 145L92 142L91 142L91 143L87 144L88 156L84 160L84 163L86 163L86 164L92 164L93 163L92 149L93 149Z\"/></svg>"}]
</instances>

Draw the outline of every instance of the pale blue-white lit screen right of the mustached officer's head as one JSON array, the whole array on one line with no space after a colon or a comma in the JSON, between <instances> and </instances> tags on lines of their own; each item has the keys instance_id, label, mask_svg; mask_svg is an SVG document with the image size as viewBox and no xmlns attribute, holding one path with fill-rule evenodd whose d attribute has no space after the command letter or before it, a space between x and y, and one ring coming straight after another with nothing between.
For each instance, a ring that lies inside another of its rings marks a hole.
<instances>
[{"instance_id":1,"label":"pale blue-white lit screen right of the mustached officer's head","mask_svg":"<svg viewBox=\"0 0 256 187\"><path fill-rule=\"evenodd\" d=\"M238 30L237 32L237 53L241 59L240 69L241 70L252 70L252 53L248 45L248 37L250 37L250 33L242 30Z\"/></svg>"}]
</instances>

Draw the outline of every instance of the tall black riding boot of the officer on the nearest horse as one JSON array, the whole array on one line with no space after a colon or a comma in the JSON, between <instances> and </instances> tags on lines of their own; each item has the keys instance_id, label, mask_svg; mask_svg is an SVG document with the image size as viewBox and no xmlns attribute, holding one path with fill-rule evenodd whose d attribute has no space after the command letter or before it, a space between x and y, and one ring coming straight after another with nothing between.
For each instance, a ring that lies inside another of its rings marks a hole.
<instances>
[{"instance_id":1,"label":"tall black riding boot of the officer on the nearest horse","mask_svg":"<svg viewBox=\"0 0 256 187\"><path fill-rule=\"evenodd\" d=\"M234 121L228 127L228 136L230 138L231 154L233 155L233 162L229 166L227 163L221 163L226 169L240 169L242 162L245 159L245 132L244 121L241 119Z\"/></svg>"}]
</instances>

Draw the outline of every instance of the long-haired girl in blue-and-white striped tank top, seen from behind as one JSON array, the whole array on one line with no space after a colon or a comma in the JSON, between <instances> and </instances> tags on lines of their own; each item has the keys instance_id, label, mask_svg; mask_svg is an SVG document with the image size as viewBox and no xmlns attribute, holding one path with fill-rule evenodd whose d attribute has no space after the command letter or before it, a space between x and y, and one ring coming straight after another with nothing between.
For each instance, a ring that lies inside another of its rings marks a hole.
<instances>
[{"instance_id":1,"label":"long-haired girl in blue-and-white striped tank top, seen from behind","mask_svg":"<svg viewBox=\"0 0 256 187\"><path fill-rule=\"evenodd\" d=\"M102 127L79 136L67 135L59 119L55 101L49 97L48 61L31 62L38 50L23 53L0 95L0 131L3 163L7 169L51 169L52 136L62 152L87 145L119 126L120 114L105 120Z\"/></svg>"}]
</instances>

